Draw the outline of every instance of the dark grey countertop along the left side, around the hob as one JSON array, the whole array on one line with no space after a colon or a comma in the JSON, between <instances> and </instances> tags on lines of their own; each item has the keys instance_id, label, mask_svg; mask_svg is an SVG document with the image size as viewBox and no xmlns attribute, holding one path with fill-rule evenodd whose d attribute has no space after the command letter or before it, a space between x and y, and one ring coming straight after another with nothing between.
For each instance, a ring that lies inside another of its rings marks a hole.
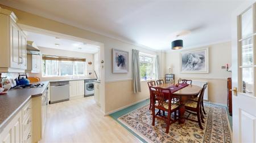
<instances>
[{"instance_id":1,"label":"dark grey countertop along the left side, around the hob","mask_svg":"<svg viewBox=\"0 0 256 143\"><path fill-rule=\"evenodd\" d=\"M44 84L44 86L42 88L11 89L7 94L0 95L0 132L31 97L42 96L49 81L38 83Z\"/></svg>"}]
</instances>

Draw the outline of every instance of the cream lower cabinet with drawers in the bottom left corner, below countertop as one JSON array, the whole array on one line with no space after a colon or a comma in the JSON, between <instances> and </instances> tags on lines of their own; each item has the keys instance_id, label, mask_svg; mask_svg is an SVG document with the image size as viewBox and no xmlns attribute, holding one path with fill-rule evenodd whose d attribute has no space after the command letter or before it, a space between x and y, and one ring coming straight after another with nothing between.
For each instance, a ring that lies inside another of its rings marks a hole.
<instances>
[{"instance_id":1,"label":"cream lower cabinet with drawers in the bottom left corner, below countertop","mask_svg":"<svg viewBox=\"0 0 256 143\"><path fill-rule=\"evenodd\" d=\"M32 102L22 107L0 134L0 142L32 142Z\"/></svg>"}]
</instances>

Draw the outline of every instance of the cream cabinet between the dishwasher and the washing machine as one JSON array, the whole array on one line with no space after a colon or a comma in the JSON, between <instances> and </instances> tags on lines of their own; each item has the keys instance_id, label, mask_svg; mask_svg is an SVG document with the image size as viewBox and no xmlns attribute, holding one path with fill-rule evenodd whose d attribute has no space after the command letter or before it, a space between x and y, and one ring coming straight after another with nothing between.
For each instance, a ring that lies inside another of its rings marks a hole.
<instances>
[{"instance_id":1,"label":"cream cabinet between the dishwasher and the washing machine","mask_svg":"<svg viewBox=\"0 0 256 143\"><path fill-rule=\"evenodd\" d=\"M84 97L84 80L69 81L69 98Z\"/></svg>"}]
</instances>

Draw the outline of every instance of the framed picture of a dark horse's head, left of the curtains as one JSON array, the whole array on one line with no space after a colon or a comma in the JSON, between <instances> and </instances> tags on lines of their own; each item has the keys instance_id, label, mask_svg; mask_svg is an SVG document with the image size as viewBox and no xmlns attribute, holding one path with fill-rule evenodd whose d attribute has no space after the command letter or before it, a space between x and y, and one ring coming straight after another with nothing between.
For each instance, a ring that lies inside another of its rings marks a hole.
<instances>
[{"instance_id":1,"label":"framed picture of a dark horse's head, left of the curtains","mask_svg":"<svg viewBox=\"0 0 256 143\"><path fill-rule=\"evenodd\" d=\"M112 57L113 73L127 73L129 67L129 52L113 49Z\"/></svg>"}]
</instances>

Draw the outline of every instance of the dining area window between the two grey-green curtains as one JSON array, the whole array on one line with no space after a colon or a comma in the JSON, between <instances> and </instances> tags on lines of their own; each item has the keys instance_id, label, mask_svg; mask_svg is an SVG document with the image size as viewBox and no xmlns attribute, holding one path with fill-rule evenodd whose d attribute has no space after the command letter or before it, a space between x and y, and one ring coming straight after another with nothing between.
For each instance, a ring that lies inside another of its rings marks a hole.
<instances>
[{"instance_id":1,"label":"dining area window between the two grey-green curtains","mask_svg":"<svg viewBox=\"0 0 256 143\"><path fill-rule=\"evenodd\" d=\"M139 70L141 72L141 80L152 80L154 79L154 56L139 54Z\"/></svg>"}]
</instances>

